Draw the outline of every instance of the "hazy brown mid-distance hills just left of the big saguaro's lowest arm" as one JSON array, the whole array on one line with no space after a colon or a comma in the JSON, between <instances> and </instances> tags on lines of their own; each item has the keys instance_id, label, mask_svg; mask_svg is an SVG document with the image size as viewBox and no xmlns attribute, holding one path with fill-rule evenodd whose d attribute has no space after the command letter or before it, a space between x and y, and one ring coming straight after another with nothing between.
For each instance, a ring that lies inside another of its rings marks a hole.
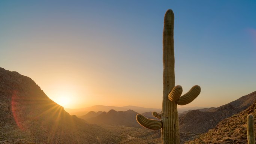
<instances>
[{"instance_id":1,"label":"hazy brown mid-distance hills just left of the big saguaro's lowest arm","mask_svg":"<svg viewBox=\"0 0 256 144\"><path fill-rule=\"evenodd\" d=\"M89 123L95 124L107 124L107 125L121 125L128 127L138 128L140 125L137 123L135 116L138 113L133 110L128 111L115 111L110 110L109 112L103 112L96 117L87 119Z\"/></svg>"}]
</instances>

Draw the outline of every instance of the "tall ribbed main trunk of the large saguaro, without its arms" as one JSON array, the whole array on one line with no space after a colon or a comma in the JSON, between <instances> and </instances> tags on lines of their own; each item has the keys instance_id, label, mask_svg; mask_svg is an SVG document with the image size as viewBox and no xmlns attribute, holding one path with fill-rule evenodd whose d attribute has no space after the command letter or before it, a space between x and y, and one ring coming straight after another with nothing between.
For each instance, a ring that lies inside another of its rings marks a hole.
<instances>
[{"instance_id":1,"label":"tall ribbed main trunk of the large saguaro, without its arms","mask_svg":"<svg viewBox=\"0 0 256 144\"><path fill-rule=\"evenodd\" d=\"M163 31L163 102L162 102L162 144L179 143L179 121L177 104L175 101L168 99L168 94L174 88L174 14L172 10L168 10L164 16L164 31Z\"/></svg>"}]
</instances>

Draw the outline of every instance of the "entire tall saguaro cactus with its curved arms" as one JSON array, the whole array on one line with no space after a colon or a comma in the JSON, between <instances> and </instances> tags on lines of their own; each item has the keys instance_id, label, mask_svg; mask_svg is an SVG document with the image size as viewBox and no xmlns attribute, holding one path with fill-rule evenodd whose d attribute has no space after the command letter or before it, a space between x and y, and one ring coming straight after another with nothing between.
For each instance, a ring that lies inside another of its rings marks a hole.
<instances>
[{"instance_id":1,"label":"entire tall saguaro cactus with its curved arms","mask_svg":"<svg viewBox=\"0 0 256 144\"><path fill-rule=\"evenodd\" d=\"M185 105L192 102L200 93L201 89L195 85L191 90L181 96L182 87L177 85L174 87L174 14L172 10L167 10L164 16L164 32L163 32L163 102L162 112L153 112L153 116L161 120L147 119L141 114L137 114L137 122L149 129L161 129L162 144L179 144L179 119L178 105Z\"/></svg>"}]
</instances>

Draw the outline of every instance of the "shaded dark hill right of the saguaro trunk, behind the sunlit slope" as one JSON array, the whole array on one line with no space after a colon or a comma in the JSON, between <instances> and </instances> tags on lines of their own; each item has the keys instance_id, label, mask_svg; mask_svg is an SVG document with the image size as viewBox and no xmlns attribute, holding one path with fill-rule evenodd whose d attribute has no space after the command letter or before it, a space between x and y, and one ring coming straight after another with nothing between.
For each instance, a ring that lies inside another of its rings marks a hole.
<instances>
[{"instance_id":1,"label":"shaded dark hill right of the saguaro trunk, behind the sunlit slope","mask_svg":"<svg viewBox=\"0 0 256 144\"><path fill-rule=\"evenodd\" d=\"M214 128L221 120L248 108L256 99L256 91L228 104L206 111L192 110L179 117L180 132L200 134Z\"/></svg>"}]
</instances>

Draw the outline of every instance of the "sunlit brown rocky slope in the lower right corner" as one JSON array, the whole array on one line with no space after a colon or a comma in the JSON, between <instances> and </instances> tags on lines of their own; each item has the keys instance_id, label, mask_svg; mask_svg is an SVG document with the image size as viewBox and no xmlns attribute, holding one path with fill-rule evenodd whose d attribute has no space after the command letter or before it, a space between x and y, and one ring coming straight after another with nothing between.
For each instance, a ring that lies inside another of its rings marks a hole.
<instances>
[{"instance_id":1,"label":"sunlit brown rocky slope in the lower right corner","mask_svg":"<svg viewBox=\"0 0 256 144\"><path fill-rule=\"evenodd\" d=\"M246 110L222 120L213 129L200 135L200 144L247 144L246 118L252 114L256 120L256 102ZM256 135L256 123L254 125Z\"/></svg>"}]
</instances>

